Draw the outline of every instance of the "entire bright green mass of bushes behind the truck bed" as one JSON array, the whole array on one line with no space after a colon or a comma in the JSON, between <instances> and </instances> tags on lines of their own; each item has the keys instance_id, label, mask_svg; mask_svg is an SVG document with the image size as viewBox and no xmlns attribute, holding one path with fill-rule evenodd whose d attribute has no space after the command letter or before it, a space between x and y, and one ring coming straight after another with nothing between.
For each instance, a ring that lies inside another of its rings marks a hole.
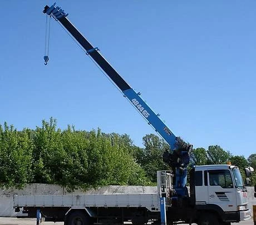
<instances>
[{"instance_id":1,"label":"entire bright green mass of bushes behind the truck bed","mask_svg":"<svg viewBox=\"0 0 256 225\"><path fill-rule=\"evenodd\" d=\"M127 134L105 134L98 129L57 129L56 119L42 121L35 130L0 126L0 183L55 183L70 190L105 185L149 185L136 162L141 148Z\"/></svg>"}]
</instances>

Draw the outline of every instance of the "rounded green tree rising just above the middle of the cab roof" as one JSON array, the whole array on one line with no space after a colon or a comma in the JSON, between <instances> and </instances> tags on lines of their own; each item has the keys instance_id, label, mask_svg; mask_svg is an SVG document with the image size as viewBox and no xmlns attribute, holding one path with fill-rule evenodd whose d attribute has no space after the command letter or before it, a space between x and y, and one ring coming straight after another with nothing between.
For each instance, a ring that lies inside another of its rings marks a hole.
<instances>
[{"instance_id":1,"label":"rounded green tree rising just above the middle of the cab roof","mask_svg":"<svg viewBox=\"0 0 256 225\"><path fill-rule=\"evenodd\" d=\"M225 164L229 161L231 154L229 152L224 151L218 145L209 146L207 151L207 163L208 164Z\"/></svg>"}]
</instances>

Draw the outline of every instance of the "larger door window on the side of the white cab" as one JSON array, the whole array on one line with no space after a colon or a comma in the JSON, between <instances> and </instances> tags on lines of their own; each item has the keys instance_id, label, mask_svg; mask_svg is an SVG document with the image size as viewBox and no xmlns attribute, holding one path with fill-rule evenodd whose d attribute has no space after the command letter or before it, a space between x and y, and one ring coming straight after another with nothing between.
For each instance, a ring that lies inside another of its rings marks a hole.
<instances>
[{"instance_id":1,"label":"larger door window on the side of the white cab","mask_svg":"<svg viewBox=\"0 0 256 225\"><path fill-rule=\"evenodd\" d=\"M220 186L222 188L233 188L233 182L228 169L216 169L208 171L210 186Z\"/></svg>"}]
</instances>

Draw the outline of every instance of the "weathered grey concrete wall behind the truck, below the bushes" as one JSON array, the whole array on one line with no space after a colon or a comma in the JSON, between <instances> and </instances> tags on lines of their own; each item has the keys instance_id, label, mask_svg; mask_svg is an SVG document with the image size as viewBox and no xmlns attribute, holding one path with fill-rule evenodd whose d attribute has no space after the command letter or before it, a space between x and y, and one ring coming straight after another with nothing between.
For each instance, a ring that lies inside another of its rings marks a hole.
<instances>
[{"instance_id":1,"label":"weathered grey concrete wall behind the truck, below the bushes","mask_svg":"<svg viewBox=\"0 0 256 225\"><path fill-rule=\"evenodd\" d=\"M253 204L256 205L256 198L254 198L254 188L247 187L249 207L252 209ZM54 184L28 184L22 190L9 188L0 189L0 217L16 217L17 213L13 209L14 195L62 195L62 194L141 194L141 193L157 193L156 187L142 187L142 186L107 186L96 190L89 190L84 192L80 189L75 192L68 193L65 188Z\"/></svg>"}]
</instances>

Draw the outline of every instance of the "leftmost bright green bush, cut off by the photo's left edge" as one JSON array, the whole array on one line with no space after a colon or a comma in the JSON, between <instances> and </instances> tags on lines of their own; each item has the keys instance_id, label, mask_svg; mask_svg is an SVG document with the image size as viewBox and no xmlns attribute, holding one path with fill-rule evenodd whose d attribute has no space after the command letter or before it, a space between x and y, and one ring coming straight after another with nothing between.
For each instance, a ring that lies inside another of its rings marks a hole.
<instances>
[{"instance_id":1,"label":"leftmost bright green bush, cut off by the photo's left edge","mask_svg":"<svg viewBox=\"0 0 256 225\"><path fill-rule=\"evenodd\" d=\"M18 132L13 126L0 126L1 186L22 187L31 181L33 143L28 129Z\"/></svg>"}]
</instances>

